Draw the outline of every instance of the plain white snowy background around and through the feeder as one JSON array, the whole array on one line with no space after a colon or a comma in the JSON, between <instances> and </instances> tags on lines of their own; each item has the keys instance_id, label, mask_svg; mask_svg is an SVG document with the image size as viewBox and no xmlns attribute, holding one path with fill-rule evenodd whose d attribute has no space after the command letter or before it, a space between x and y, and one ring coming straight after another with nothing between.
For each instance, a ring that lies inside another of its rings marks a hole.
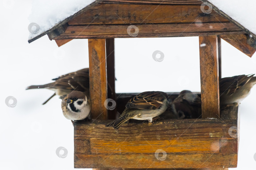
<instances>
[{"instance_id":1,"label":"plain white snowy background around and through the feeder","mask_svg":"<svg viewBox=\"0 0 256 170\"><path fill-rule=\"evenodd\" d=\"M29 0L0 1L0 169L70 170L73 126L62 114L60 99L41 105L53 92L25 88L88 67L88 40L72 40L58 48L44 36L28 44L31 7ZM200 91L198 45L198 37L116 39L116 92ZM162 62L153 60L155 50L164 53ZM222 41L222 77L256 73L255 65L255 55L250 58ZM17 99L14 108L5 104L8 96ZM256 87L241 103L238 167L234 169L256 167L255 97ZM56 155L60 146L68 150L65 158Z\"/></svg>"}]
</instances>

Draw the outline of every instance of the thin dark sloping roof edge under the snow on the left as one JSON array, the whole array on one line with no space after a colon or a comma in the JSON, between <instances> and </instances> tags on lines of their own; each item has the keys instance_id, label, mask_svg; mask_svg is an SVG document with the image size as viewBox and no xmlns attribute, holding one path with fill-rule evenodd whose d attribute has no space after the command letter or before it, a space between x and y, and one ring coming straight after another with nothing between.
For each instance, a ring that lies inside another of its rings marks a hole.
<instances>
[{"instance_id":1,"label":"thin dark sloping roof edge under the snow on the left","mask_svg":"<svg viewBox=\"0 0 256 170\"><path fill-rule=\"evenodd\" d=\"M38 36L34 37L34 38L30 38L28 39L28 43L31 43L35 40L37 40L38 38L43 37L44 35L46 35L49 32L52 32L53 30L57 29L59 26L64 25L65 23L67 23L69 20L71 20L72 18L82 14L83 12L87 11L88 9L90 9L91 7L97 5L98 3L101 3L103 0L95 0L94 2L90 3L89 5L87 5L86 7L84 7L83 9L79 10L78 12L76 12L74 15L70 15L69 17L65 18L64 20L58 22L57 24L55 24L54 26L52 26L50 29L46 30L45 32L42 32L41 34L39 34Z\"/></svg>"}]
</instances>

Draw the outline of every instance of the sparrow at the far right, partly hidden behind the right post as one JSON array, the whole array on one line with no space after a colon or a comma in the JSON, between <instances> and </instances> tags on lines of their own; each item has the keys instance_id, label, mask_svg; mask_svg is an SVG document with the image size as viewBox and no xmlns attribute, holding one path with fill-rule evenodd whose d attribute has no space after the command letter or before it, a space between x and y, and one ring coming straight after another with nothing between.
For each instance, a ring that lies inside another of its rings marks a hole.
<instances>
[{"instance_id":1,"label":"sparrow at the far right, partly hidden behind the right post","mask_svg":"<svg viewBox=\"0 0 256 170\"><path fill-rule=\"evenodd\" d=\"M238 75L220 79L220 106L238 106L249 94L251 88L256 84L254 74Z\"/></svg>"}]
</instances>

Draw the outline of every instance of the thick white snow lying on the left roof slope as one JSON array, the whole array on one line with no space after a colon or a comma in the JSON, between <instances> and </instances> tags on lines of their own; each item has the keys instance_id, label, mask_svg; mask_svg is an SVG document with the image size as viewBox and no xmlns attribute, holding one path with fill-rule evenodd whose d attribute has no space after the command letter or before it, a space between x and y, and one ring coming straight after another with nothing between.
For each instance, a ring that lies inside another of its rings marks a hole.
<instances>
[{"instance_id":1,"label":"thick white snow lying on the left roof slope","mask_svg":"<svg viewBox=\"0 0 256 170\"><path fill-rule=\"evenodd\" d=\"M28 39L51 29L95 0L34 0L28 17Z\"/></svg>"}]
</instances>

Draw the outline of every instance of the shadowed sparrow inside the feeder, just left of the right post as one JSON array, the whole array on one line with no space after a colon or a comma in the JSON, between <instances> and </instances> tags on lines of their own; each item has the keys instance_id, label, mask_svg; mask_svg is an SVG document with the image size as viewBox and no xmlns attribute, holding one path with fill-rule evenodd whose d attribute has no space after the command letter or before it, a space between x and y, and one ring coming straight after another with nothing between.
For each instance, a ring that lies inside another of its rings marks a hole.
<instances>
[{"instance_id":1,"label":"shadowed sparrow inside the feeder, just left of the right post","mask_svg":"<svg viewBox=\"0 0 256 170\"><path fill-rule=\"evenodd\" d=\"M197 119L202 114L201 98L191 91L181 91L173 103L177 113L184 115L184 119Z\"/></svg>"}]
</instances>

